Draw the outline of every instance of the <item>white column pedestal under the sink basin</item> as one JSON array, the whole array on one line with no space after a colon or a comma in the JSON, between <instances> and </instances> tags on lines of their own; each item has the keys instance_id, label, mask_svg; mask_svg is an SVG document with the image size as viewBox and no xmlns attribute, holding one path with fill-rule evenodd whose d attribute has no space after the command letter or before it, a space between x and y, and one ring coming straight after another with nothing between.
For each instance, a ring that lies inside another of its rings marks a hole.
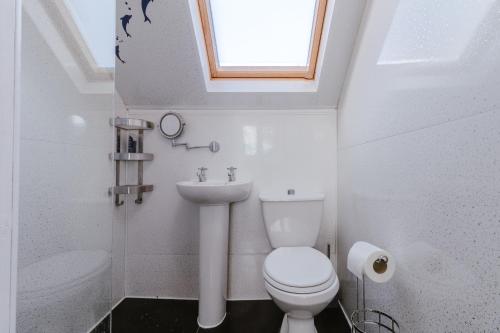
<instances>
[{"instance_id":1,"label":"white column pedestal under the sink basin","mask_svg":"<svg viewBox=\"0 0 500 333\"><path fill-rule=\"evenodd\" d=\"M226 317L229 204L200 206L200 300L198 325L218 326Z\"/></svg>"}]
</instances>

